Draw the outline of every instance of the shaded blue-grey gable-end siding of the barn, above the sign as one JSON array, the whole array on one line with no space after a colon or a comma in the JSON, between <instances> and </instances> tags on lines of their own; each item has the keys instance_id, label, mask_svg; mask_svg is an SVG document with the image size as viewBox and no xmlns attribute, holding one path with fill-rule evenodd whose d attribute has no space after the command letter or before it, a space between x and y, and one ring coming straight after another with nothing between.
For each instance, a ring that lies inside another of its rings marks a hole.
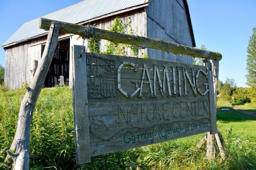
<instances>
[{"instance_id":1,"label":"shaded blue-grey gable-end siding of the barn, above the sign","mask_svg":"<svg viewBox=\"0 0 256 170\"><path fill-rule=\"evenodd\" d=\"M153 0L146 7L147 36L192 47L183 0ZM192 64L192 57L148 49L150 58Z\"/></svg>"}]
</instances>

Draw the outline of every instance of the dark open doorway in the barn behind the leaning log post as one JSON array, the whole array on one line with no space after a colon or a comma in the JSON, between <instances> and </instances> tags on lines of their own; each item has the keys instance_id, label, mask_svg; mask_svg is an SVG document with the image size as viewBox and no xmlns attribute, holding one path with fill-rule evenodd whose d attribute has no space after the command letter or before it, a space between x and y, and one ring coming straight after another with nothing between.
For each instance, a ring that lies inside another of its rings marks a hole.
<instances>
[{"instance_id":1,"label":"dark open doorway in the barn behind the leaning log post","mask_svg":"<svg viewBox=\"0 0 256 170\"><path fill-rule=\"evenodd\" d=\"M42 47L42 51L45 46ZM58 41L50 69L45 78L45 88L55 87L64 76L64 84L69 85L70 39Z\"/></svg>"}]
</instances>

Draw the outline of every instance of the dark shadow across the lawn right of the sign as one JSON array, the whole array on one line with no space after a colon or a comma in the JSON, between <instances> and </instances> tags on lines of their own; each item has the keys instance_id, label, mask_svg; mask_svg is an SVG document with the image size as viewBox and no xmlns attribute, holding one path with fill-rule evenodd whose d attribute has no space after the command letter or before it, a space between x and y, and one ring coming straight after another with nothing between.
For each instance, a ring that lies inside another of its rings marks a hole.
<instances>
[{"instance_id":1,"label":"dark shadow across the lawn right of the sign","mask_svg":"<svg viewBox=\"0 0 256 170\"><path fill-rule=\"evenodd\" d=\"M256 121L256 117L245 115L241 112L238 112L232 108L229 108L228 111L222 111L217 109L217 120L222 120L225 122L243 122L243 121Z\"/></svg>"}]
</instances>

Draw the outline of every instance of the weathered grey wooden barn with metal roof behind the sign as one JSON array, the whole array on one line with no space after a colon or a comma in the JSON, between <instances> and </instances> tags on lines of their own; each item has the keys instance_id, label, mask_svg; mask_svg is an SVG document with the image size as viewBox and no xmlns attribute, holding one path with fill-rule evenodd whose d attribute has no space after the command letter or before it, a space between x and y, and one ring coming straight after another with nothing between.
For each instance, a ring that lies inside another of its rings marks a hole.
<instances>
[{"instance_id":1,"label":"weathered grey wooden barn with metal roof behind the sign","mask_svg":"<svg viewBox=\"0 0 256 170\"><path fill-rule=\"evenodd\" d=\"M95 24L108 29L114 18L131 21L133 33L138 36L157 38L195 47L195 39L186 0L83 0L80 3L52 12L42 18L78 23ZM42 56L47 31L39 29L39 19L24 23L3 45L6 51L5 83L10 89L31 82L36 63ZM101 40L100 51L106 50L106 41ZM72 47L82 45L77 35L60 34L45 87L56 84L60 75L72 86ZM87 45L87 41L85 43ZM131 50L128 50L131 56ZM192 57L175 56L156 49L140 49L137 57L147 54L151 59L192 63Z\"/></svg>"}]
</instances>

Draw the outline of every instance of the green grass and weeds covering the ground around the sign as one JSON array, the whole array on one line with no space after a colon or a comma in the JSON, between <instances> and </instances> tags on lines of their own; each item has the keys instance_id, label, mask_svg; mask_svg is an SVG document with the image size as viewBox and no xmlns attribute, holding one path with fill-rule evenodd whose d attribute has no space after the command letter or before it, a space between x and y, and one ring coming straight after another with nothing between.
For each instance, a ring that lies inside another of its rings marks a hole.
<instances>
[{"instance_id":1,"label":"green grass and weeds covering the ground around the sign","mask_svg":"<svg viewBox=\"0 0 256 170\"><path fill-rule=\"evenodd\" d=\"M0 169L10 169L4 163L6 150L15 133L20 101L25 90L5 92L0 88ZM72 90L42 89L31 126L31 169L255 169L256 119L234 110L217 111L218 129L228 147L225 162L217 152L216 159L206 159L206 146L196 145L205 136L199 134L146 147L129 149L92 157L92 162L75 164ZM232 128L232 130L230 130Z\"/></svg>"}]
</instances>

